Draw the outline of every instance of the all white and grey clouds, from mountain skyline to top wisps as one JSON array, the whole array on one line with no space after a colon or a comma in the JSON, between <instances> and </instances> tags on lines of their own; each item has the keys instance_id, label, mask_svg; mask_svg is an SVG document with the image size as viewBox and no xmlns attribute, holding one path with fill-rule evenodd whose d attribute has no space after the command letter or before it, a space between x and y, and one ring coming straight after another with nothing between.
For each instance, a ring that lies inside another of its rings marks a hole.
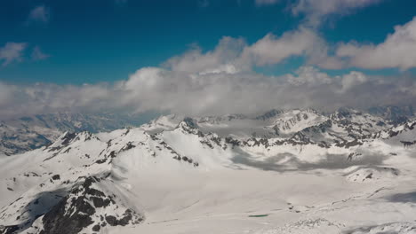
<instances>
[{"instance_id":1,"label":"all white and grey clouds, from mountain skyline to top wisps","mask_svg":"<svg viewBox=\"0 0 416 234\"><path fill-rule=\"evenodd\" d=\"M256 4L267 7L278 2ZM292 4L291 11L304 15L306 21L292 31L269 33L252 44L244 38L224 36L212 51L193 45L161 66L140 68L119 82L80 86L0 82L0 119L104 109L204 115L255 113L276 107L330 110L346 105L412 105L416 102L416 79L407 70L416 67L416 17L396 26L379 44L328 43L316 27L332 14L348 14L379 2L300 0ZM49 19L33 14L38 20ZM6 43L0 48L3 66L20 61L27 47L27 43ZM32 57L49 55L35 47ZM301 58L305 63L289 74L258 72L289 58ZM330 75L329 70L346 68L342 74ZM401 73L368 75L362 70L384 68L397 68Z\"/></svg>"}]
</instances>

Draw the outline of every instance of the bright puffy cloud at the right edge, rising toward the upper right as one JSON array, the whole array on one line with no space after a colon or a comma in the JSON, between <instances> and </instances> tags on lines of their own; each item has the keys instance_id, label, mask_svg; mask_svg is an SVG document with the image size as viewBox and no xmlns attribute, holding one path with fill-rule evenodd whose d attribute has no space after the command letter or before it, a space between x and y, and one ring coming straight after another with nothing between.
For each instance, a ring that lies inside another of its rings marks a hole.
<instances>
[{"instance_id":1,"label":"bright puffy cloud at the right edge, rising toward the upper right","mask_svg":"<svg viewBox=\"0 0 416 234\"><path fill-rule=\"evenodd\" d=\"M341 44L336 55L346 60L347 66L370 69L416 67L416 17L404 26L396 26L380 44Z\"/></svg>"}]
</instances>

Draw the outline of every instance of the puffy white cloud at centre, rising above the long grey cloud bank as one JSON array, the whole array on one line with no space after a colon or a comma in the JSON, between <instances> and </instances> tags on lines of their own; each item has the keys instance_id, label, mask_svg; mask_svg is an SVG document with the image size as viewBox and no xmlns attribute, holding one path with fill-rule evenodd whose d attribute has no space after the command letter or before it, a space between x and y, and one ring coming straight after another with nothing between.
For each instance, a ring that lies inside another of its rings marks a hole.
<instances>
[{"instance_id":1,"label":"puffy white cloud at centre, rising above the long grey cloud bank","mask_svg":"<svg viewBox=\"0 0 416 234\"><path fill-rule=\"evenodd\" d=\"M308 64L339 68L337 58L328 57L324 39L309 27L299 27L283 35L265 35L251 45L241 38L223 37L212 51L193 45L187 52L168 59L164 67L175 72L207 73L227 70L251 71L253 66L271 66L287 58L305 57Z\"/></svg>"}]
</instances>

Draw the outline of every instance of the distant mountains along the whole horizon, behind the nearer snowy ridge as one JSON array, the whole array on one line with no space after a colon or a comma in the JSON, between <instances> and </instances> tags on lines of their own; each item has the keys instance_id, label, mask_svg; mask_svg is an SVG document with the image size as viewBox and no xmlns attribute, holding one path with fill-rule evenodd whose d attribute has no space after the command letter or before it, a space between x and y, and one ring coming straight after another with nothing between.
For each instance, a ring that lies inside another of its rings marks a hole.
<instances>
[{"instance_id":1,"label":"distant mountains along the whole horizon, behind the nearer snowy ridge","mask_svg":"<svg viewBox=\"0 0 416 234\"><path fill-rule=\"evenodd\" d=\"M369 108L366 112L340 108L335 113L321 113L314 109L305 110L271 110L255 116L229 114L224 116L207 116L196 118L208 130L218 130L219 134L236 130L233 134L243 136L295 136L310 134L309 131L327 129L336 123L345 129L344 133L335 135L361 136L374 131L387 129L408 121L414 116L412 106L379 106ZM166 118L172 122L164 123ZM177 124L185 116L163 116L152 121L156 126ZM139 127L146 118L135 114L83 114L51 113L22 117L20 119L0 121L0 154L12 155L28 152L41 146L52 144L64 132L89 131L107 132L125 127ZM221 128L228 125L228 128ZM172 126L171 126L172 127ZM315 136L316 137L316 136ZM341 137L341 136L340 136Z\"/></svg>"}]
</instances>

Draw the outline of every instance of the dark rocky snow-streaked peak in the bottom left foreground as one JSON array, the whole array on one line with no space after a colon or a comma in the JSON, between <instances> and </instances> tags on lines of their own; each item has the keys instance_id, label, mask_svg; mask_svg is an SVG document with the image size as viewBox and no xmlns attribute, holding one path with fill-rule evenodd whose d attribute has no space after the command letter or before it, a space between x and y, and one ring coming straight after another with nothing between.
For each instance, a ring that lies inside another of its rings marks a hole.
<instances>
[{"instance_id":1,"label":"dark rocky snow-streaked peak in the bottom left foreground","mask_svg":"<svg viewBox=\"0 0 416 234\"><path fill-rule=\"evenodd\" d=\"M102 189L100 179L82 178L68 195L42 217L39 234L75 234L82 230L100 231L106 225L138 224L144 220L131 208L119 204L115 194Z\"/></svg>"}]
</instances>

